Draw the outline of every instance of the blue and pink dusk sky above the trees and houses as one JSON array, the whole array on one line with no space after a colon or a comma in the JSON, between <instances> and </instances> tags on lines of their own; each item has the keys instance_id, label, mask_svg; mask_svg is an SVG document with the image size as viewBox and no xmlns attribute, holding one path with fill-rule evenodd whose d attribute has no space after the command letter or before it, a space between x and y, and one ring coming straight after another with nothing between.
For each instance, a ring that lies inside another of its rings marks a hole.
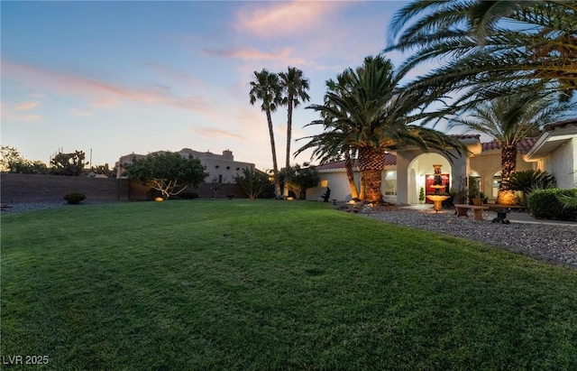
<instances>
[{"instance_id":1,"label":"blue and pink dusk sky above the trees and houses","mask_svg":"<svg viewBox=\"0 0 577 371\"><path fill-rule=\"evenodd\" d=\"M310 102L293 138L318 118L325 80L386 46L406 2L1 2L2 145L49 162L60 148L110 167L159 150L222 153L272 168L253 71L303 70ZM398 66L403 58L387 54ZM286 108L273 116L284 166ZM305 141L293 141L294 152ZM309 161L310 153L293 163Z\"/></svg>"}]
</instances>

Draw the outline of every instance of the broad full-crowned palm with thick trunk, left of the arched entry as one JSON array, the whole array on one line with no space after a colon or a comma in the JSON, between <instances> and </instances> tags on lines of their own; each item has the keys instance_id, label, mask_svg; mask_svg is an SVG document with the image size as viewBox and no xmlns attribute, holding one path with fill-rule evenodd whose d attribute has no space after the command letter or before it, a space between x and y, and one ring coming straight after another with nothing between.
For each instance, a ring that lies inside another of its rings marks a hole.
<instances>
[{"instance_id":1,"label":"broad full-crowned palm with thick trunk, left of the arched entry","mask_svg":"<svg viewBox=\"0 0 577 371\"><path fill-rule=\"evenodd\" d=\"M447 135L408 125L417 119L409 116L419 106L417 96L411 92L398 94L399 76L382 56L366 57L362 67L345 70L339 79L337 87L325 93L325 104L307 107L323 117L311 125L325 125L324 133L313 135L309 144L335 141L327 148L354 148L366 201L382 202L380 180L387 150L413 144L423 151L435 148L452 155L451 148L459 152L463 149Z\"/></svg>"}]
</instances>

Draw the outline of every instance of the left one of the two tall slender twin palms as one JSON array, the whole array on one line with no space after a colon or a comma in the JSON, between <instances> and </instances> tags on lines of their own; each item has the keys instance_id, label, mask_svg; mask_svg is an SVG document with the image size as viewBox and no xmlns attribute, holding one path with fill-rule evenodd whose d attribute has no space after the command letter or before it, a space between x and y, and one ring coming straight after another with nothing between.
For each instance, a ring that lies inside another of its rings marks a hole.
<instances>
[{"instance_id":1,"label":"left one of the two tall slender twin palms","mask_svg":"<svg viewBox=\"0 0 577 371\"><path fill-rule=\"evenodd\" d=\"M261 72L254 71L254 77L251 81L251 105L257 100L262 102L261 110L267 116L270 135L270 151L272 152L272 179L274 182L274 191L277 197L280 196L279 165L277 164L277 148L274 144L274 131L272 129L271 112L277 110L280 102L279 76L268 70L262 69Z\"/></svg>"}]
</instances>

